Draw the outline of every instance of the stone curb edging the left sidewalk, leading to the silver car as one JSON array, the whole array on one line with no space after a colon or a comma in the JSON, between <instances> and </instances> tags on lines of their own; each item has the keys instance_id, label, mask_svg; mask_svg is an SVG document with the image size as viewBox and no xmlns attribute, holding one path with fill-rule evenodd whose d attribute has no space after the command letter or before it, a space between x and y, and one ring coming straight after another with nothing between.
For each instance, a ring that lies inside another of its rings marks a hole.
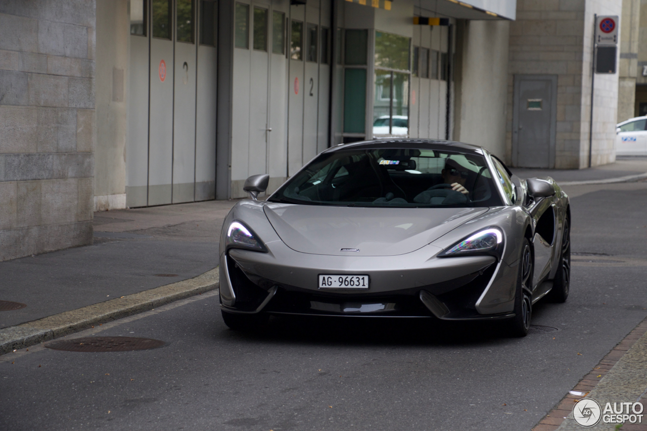
<instances>
[{"instance_id":1,"label":"stone curb edging the left sidewalk, leading to the silver car","mask_svg":"<svg viewBox=\"0 0 647 431\"><path fill-rule=\"evenodd\" d=\"M87 329L93 324L109 322L148 311L160 305L188 298L219 287L219 268L199 276L171 283L148 291L122 296L113 300L87 305L58 315L0 329L0 355L16 349L63 337Z\"/></svg>"}]
</instances>

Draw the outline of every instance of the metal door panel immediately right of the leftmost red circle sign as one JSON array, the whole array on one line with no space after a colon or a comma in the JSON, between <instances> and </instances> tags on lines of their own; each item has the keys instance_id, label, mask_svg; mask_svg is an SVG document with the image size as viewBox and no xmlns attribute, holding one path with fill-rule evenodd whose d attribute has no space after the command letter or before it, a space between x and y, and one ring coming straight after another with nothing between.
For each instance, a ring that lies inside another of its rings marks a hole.
<instances>
[{"instance_id":1,"label":"metal door panel immediately right of the leftmost red circle sign","mask_svg":"<svg viewBox=\"0 0 647 431\"><path fill-rule=\"evenodd\" d=\"M195 1L175 1L172 202L192 202L195 188Z\"/></svg>"}]
</instances>

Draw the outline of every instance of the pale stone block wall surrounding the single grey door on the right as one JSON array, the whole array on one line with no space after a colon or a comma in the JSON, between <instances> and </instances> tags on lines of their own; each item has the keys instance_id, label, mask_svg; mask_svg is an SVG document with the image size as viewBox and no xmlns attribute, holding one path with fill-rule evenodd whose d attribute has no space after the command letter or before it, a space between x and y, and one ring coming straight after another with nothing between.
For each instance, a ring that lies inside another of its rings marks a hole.
<instances>
[{"instance_id":1,"label":"pale stone block wall surrounding the single grey door on the right","mask_svg":"<svg viewBox=\"0 0 647 431\"><path fill-rule=\"evenodd\" d=\"M593 14L620 15L615 0L518 0L510 23L507 148L512 153L515 74L555 74L557 117L555 164L585 168L589 162ZM618 75L595 78L593 166L615 159Z\"/></svg>"}]
</instances>

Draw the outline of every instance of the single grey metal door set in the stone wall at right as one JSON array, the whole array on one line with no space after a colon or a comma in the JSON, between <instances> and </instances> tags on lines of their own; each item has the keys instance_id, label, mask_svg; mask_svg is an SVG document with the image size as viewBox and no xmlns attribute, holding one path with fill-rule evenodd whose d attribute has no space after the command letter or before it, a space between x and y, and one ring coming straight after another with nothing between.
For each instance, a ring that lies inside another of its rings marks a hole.
<instances>
[{"instance_id":1,"label":"single grey metal door set in the stone wall at right","mask_svg":"<svg viewBox=\"0 0 647 431\"><path fill-rule=\"evenodd\" d=\"M554 168L557 75L515 75L512 164Z\"/></svg>"}]
</instances>

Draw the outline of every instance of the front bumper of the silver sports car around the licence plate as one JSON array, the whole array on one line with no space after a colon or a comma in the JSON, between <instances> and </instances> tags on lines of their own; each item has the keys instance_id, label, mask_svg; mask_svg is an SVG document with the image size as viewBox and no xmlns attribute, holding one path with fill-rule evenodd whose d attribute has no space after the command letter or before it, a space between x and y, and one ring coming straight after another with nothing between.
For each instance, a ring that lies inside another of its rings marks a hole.
<instances>
[{"instance_id":1,"label":"front bumper of the silver sports car around the licence plate","mask_svg":"<svg viewBox=\"0 0 647 431\"><path fill-rule=\"evenodd\" d=\"M273 241L268 249L267 253L243 249L223 253L224 311L444 320L512 316L514 293L511 302L509 287L499 290L510 284L505 280L511 272L516 280L516 269L510 271L492 256L437 258L441 249L433 245L399 256L308 254L282 241ZM367 275L369 289L319 289L319 274Z\"/></svg>"}]
</instances>

